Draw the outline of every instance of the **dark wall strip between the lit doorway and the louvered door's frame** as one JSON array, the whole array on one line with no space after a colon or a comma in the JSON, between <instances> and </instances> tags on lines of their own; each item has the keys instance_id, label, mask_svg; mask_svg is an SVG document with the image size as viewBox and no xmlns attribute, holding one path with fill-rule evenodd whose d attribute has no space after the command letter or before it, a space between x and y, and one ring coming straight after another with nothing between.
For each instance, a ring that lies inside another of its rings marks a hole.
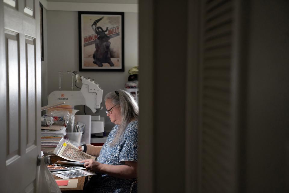
<instances>
[{"instance_id":1,"label":"dark wall strip between the lit doorway and the louvered door's frame","mask_svg":"<svg viewBox=\"0 0 289 193\"><path fill-rule=\"evenodd\" d=\"M138 192L185 192L187 6L139 1Z\"/></svg>"}]
</instances>

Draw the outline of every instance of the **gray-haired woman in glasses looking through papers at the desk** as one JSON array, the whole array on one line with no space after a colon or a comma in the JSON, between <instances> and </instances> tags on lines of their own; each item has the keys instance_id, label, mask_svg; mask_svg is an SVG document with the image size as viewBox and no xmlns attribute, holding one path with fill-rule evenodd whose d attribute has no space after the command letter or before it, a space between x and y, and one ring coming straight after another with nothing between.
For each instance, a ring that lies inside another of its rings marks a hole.
<instances>
[{"instance_id":1,"label":"gray-haired woman in glasses looking through papers at the desk","mask_svg":"<svg viewBox=\"0 0 289 193\"><path fill-rule=\"evenodd\" d=\"M84 191L129 192L137 178L138 105L124 90L110 92L104 100L107 116L116 125L103 146L86 145L86 153L98 158L81 161L87 169L96 172Z\"/></svg>"}]
</instances>

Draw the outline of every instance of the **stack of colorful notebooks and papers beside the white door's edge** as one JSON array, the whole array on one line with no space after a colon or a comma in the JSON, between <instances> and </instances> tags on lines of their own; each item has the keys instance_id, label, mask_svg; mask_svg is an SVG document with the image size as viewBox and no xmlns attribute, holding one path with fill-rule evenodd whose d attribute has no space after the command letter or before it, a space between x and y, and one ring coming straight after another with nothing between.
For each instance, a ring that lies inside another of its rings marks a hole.
<instances>
[{"instance_id":1,"label":"stack of colorful notebooks and papers beside the white door's edge","mask_svg":"<svg viewBox=\"0 0 289 193\"><path fill-rule=\"evenodd\" d=\"M60 130L42 130L41 149L55 148L64 135L66 135L66 127L62 127Z\"/></svg>"}]
</instances>

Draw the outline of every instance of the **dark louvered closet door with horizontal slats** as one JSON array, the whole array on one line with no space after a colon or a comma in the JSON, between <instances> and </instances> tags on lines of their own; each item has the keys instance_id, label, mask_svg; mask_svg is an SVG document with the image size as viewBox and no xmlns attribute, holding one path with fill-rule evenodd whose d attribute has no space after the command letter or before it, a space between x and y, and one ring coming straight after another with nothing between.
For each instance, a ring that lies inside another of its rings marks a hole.
<instances>
[{"instance_id":1,"label":"dark louvered closet door with horizontal slats","mask_svg":"<svg viewBox=\"0 0 289 193\"><path fill-rule=\"evenodd\" d=\"M202 2L200 192L236 192L232 127L234 1Z\"/></svg>"}]
</instances>

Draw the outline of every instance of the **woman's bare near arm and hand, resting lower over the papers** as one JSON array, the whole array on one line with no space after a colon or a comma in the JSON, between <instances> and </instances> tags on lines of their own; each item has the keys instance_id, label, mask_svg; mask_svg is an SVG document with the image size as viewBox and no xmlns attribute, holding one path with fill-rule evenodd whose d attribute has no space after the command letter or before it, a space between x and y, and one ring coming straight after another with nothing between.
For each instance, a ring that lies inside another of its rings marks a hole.
<instances>
[{"instance_id":1,"label":"woman's bare near arm and hand, resting lower over the papers","mask_svg":"<svg viewBox=\"0 0 289 193\"><path fill-rule=\"evenodd\" d=\"M122 179L137 178L137 162L125 161L125 165L113 166L99 163L95 160L83 160L86 169L108 174Z\"/></svg>"}]
</instances>

